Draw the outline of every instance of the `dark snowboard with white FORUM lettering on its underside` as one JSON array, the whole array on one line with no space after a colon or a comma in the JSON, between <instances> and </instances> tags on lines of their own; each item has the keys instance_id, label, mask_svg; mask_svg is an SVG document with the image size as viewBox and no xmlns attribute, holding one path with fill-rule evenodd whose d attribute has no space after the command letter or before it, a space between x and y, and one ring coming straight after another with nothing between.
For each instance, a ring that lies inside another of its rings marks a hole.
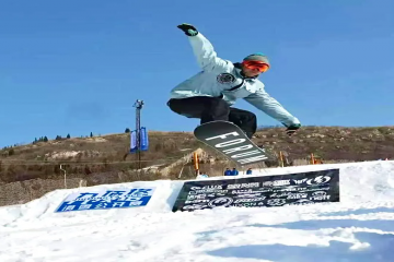
<instances>
[{"instance_id":1,"label":"dark snowboard with white FORUM lettering on its underside","mask_svg":"<svg viewBox=\"0 0 394 262\"><path fill-rule=\"evenodd\" d=\"M202 123L194 130L194 135L240 166L274 159L265 148L254 144L242 129L229 121Z\"/></svg>"}]
</instances>

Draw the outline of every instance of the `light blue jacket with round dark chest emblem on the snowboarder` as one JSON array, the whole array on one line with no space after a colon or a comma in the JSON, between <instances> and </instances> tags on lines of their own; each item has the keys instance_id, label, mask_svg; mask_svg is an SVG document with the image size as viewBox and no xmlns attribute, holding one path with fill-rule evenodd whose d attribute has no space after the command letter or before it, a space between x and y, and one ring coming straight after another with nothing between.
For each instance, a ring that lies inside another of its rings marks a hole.
<instances>
[{"instance_id":1,"label":"light blue jacket with round dark chest emblem on the snowboarder","mask_svg":"<svg viewBox=\"0 0 394 262\"><path fill-rule=\"evenodd\" d=\"M265 92L264 84L259 80L244 78L239 63L219 58L213 46L201 33L189 36L188 39L202 71L175 86L171 91L171 98L222 97L230 106L237 98L243 98L287 127L300 123Z\"/></svg>"}]
</instances>

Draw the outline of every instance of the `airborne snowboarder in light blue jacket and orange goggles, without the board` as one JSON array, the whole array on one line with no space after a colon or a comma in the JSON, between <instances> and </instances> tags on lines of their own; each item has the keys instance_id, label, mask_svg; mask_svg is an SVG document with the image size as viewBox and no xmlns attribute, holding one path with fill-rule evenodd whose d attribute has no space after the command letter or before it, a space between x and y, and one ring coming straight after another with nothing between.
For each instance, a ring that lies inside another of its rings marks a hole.
<instances>
[{"instance_id":1,"label":"airborne snowboarder in light blue jacket and orange goggles, without the board","mask_svg":"<svg viewBox=\"0 0 394 262\"><path fill-rule=\"evenodd\" d=\"M233 63L219 58L211 43L195 26L181 24L177 27L188 36L202 70L171 91L167 102L171 110L187 118L198 118L200 123L233 122L251 139L257 129L256 115L232 107L237 98L243 98L280 121L287 127L288 135L301 127L300 121L269 96L257 80L270 67L265 55L253 53L241 63Z\"/></svg>"}]
</instances>

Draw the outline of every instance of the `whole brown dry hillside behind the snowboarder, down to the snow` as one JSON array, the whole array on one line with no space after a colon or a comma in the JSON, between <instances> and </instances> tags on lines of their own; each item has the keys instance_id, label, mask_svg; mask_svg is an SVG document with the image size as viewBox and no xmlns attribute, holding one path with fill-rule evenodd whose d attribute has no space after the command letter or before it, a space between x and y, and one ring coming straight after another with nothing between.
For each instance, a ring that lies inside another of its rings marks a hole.
<instances>
[{"instance_id":1,"label":"whole brown dry hillside behind the snowboarder, down to the snow","mask_svg":"<svg viewBox=\"0 0 394 262\"><path fill-rule=\"evenodd\" d=\"M285 153L289 165L306 165L311 153L321 156L324 163L394 157L393 127L304 127L293 138L286 136L282 128L265 128L253 140L275 154ZM128 154L129 133L58 138L3 148L0 151L0 206L27 203L62 188L195 178L192 163L195 151L199 152L199 169L209 176L222 176L225 168L234 167L196 141L190 132L150 131L149 141L149 151L141 154L140 162L136 154ZM252 168L278 165L273 162Z\"/></svg>"}]
</instances>

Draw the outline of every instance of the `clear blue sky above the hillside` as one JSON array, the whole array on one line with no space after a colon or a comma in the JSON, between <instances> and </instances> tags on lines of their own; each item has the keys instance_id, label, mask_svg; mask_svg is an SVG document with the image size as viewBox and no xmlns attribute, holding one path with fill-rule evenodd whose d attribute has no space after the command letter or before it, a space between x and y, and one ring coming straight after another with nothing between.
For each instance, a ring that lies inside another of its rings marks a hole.
<instances>
[{"instance_id":1,"label":"clear blue sky above the hillside","mask_svg":"<svg viewBox=\"0 0 394 262\"><path fill-rule=\"evenodd\" d=\"M392 126L394 1L19 0L0 2L0 146L199 121L166 107L199 71L194 24L224 59L265 52L266 91L304 126ZM275 119L240 100L258 124Z\"/></svg>"}]
</instances>

